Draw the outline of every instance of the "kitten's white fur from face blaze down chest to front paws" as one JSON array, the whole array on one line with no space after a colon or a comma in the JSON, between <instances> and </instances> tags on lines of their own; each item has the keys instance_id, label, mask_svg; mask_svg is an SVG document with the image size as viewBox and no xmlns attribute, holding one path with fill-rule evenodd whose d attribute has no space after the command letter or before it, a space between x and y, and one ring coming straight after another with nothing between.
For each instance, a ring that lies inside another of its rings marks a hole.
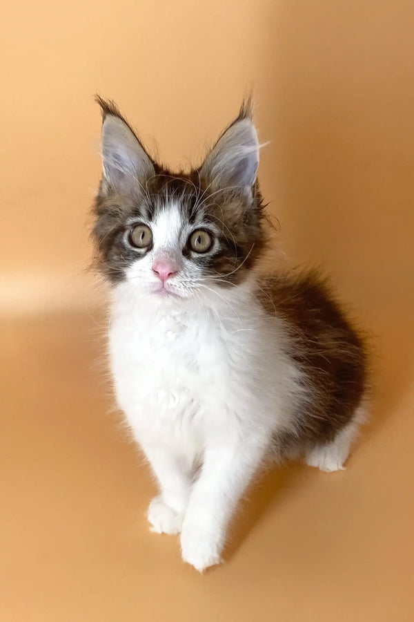
<instances>
[{"instance_id":1,"label":"kitten's white fur from face blaze down chest to front paws","mask_svg":"<svg viewBox=\"0 0 414 622\"><path fill-rule=\"evenodd\" d=\"M272 433L293 429L306 396L283 322L265 317L252 280L206 285L181 254L189 225L170 207L151 223L153 249L113 290L110 358L119 405L159 483L148 520L154 531L181 531L183 559L203 571L219 562ZM180 256L173 296L154 293L160 253Z\"/></svg>"}]
</instances>

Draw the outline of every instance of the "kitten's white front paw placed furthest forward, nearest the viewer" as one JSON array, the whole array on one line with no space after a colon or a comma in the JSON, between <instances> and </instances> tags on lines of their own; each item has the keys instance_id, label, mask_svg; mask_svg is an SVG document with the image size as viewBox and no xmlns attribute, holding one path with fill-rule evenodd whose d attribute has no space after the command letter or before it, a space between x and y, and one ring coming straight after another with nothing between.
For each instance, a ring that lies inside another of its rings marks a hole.
<instances>
[{"instance_id":1,"label":"kitten's white front paw placed furthest forward, nearest the viewer","mask_svg":"<svg viewBox=\"0 0 414 622\"><path fill-rule=\"evenodd\" d=\"M221 538L214 534L184 528L181 533L181 556L199 572L221 563Z\"/></svg>"}]
</instances>

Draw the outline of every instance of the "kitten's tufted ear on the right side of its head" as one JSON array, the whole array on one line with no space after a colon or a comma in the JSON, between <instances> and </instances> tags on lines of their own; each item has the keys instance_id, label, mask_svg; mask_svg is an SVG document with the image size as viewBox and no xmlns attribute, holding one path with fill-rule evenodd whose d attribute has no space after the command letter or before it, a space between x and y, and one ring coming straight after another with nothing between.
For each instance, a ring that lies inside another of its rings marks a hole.
<instances>
[{"instance_id":1,"label":"kitten's tufted ear on the right side of its head","mask_svg":"<svg viewBox=\"0 0 414 622\"><path fill-rule=\"evenodd\" d=\"M250 102L224 131L200 169L212 187L251 190L259 167L259 141L251 119Z\"/></svg>"}]
</instances>

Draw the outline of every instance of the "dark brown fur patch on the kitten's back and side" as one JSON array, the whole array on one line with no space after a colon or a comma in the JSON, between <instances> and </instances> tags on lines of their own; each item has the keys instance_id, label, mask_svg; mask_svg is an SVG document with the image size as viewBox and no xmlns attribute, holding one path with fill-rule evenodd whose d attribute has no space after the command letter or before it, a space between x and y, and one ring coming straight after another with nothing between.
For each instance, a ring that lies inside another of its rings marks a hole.
<instances>
[{"instance_id":1,"label":"dark brown fur patch on the kitten's back and side","mask_svg":"<svg viewBox=\"0 0 414 622\"><path fill-rule=\"evenodd\" d=\"M296 413L297 436L279 435L284 451L330 442L366 393L364 341L316 272L264 277L257 290L267 314L286 321L290 356L304 374L308 402Z\"/></svg>"}]
</instances>

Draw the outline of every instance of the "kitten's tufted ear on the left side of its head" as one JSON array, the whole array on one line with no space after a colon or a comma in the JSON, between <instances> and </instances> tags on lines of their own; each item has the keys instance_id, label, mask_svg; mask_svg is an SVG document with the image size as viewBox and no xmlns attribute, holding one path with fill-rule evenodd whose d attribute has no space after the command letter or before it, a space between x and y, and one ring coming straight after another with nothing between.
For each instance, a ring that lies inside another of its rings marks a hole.
<instances>
[{"instance_id":1,"label":"kitten's tufted ear on the left side of its head","mask_svg":"<svg viewBox=\"0 0 414 622\"><path fill-rule=\"evenodd\" d=\"M97 97L103 115L102 167L106 185L128 191L154 175L154 164L117 106Z\"/></svg>"}]
</instances>

